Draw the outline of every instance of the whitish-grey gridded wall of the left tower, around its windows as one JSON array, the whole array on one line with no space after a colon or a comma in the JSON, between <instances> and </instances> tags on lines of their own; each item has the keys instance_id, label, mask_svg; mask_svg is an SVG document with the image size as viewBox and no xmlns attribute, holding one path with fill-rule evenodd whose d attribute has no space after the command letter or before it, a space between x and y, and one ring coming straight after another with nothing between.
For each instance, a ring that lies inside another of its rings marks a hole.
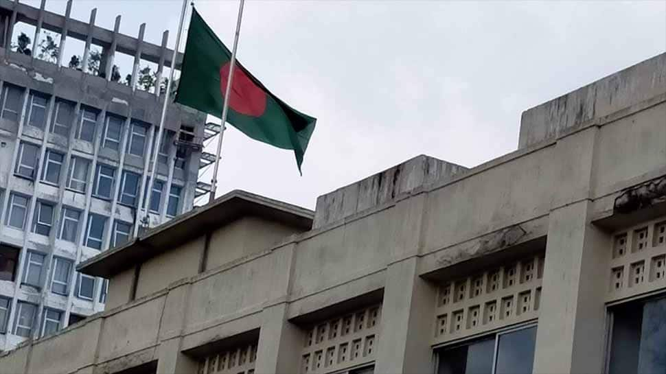
<instances>
[{"instance_id":1,"label":"whitish-grey gridded wall of the left tower, around its windows","mask_svg":"<svg viewBox=\"0 0 666 374\"><path fill-rule=\"evenodd\" d=\"M70 4L71 5L71 4ZM100 43L100 40L115 39L117 49L125 53L128 47L138 51L143 49L142 57L155 60L159 55L165 56L168 49L143 42L141 37L130 38L117 32L106 32L92 23L81 23L50 12L40 11L29 5L14 2L0 1L0 19L3 24L9 24L12 12L21 22L32 23L50 32L62 32L60 27L70 27L71 38L81 38L84 42L87 32L101 33L97 38L88 40L90 43ZM94 19L94 17L93 17ZM56 27L54 29L54 27ZM56 30L57 29L57 30ZM3 32L4 32L3 28ZM8 29L11 32L11 27ZM79 32L79 31L84 32ZM103 34L103 35L102 35ZM30 38L34 38L30 35ZM141 39L141 40L140 40ZM165 39L166 40L166 39ZM1 43L3 43L4 39ZM64 43L60 41L59 43ZM69 43L72 43L71 41ZM34 43L33 43L34 44ZM111 56L111 49L106 48L106 57ZM141 54L141 52L139 52ZM157 56L156 56L157 55ZM40 60L36 57L18 54L8 49L0 48L0 242L3 245L19 248L19 264L16 266L14 281L0 281L0 298L10 300L10 309L5 321L0 321L0 350L11 349L24 337L14 334L16 328L16 312L21 302L30 302L36 305L36 314L32 323L31 336L40 336L41 323L47 308L60 312L60 327L69 325L71 314L76 316L89 316L104 309L104 296L102 279L96 279L91 300L77 296L78 274L74 266L80 261L93 257L100 250L90 248L85 242L85 231L91 214L102 215L106 219L102 235L101 248L106 249L114 245L112 237L115 235L116 222L125 222L131 225L129 236L137 229L137 212L135 206L119 202L122 194L122 172L134 172L139 175L139 189L137 200L143 195L144 187L148 184L149 168L147 160L152 154L152 141L157 136L157 125L161 115L164 95L133 89L132 87L112 82L102 76L84 73L77 69L58 66L53 62ZM157 60L156 60L157 62ZM167 61L168 62L168 61ZM168 62L170 64L170 62ZM67 65L65 63L65 65ZM163 69L165 60L160 62L159 69ZM19 98L19 113L16 119L3 116L3 109L7 108L5 89L12 87L21 91ZM46 100L41 128L30 123L32 99L31 95L42 95ZM54 131L53 123L58 117L58 102L65 100L71 103L71 115L65 120L69 126L67 134ZM97 113L95 133L92 141L79 139L78 127L84 108ZM122 137L119 150L107 149L100 143L104 137L106 119L115 116L122 119ZM176 147L172 144L174 134L181 124L194 126L196 136L202 137L205 115L181 106L170 105L165 132L169 137L165 149L167 154L159 158L157 166L157 180L163 183L159 212L150 214L150 223L154 226L164 222L170 217L167 212L169 191L172 186L181 187L180 201L176 213L192 209L194 201L196 179L200 151L191 152L184 160L184 165L176 162ZM130 132L133 124L141 123L147 126L143 156L137 156L126 150L130 143ZM36 163L36 178L23 178L15 172L20 159L21 144L33 144L38 148L38 162ZM62 155L60 178L58 183L48 184L43 180L43 170L47 160L47 151L58 152ZM67 186L69 180L69 167L73 157L89 162L86 179L86 189L83 192L74 191ZM108 199L93 196L97 165L115 167L115 177L111 187L111 197ZM25 212L26 223L24 229L15 229L7 224L10 215L10 196L21 194L30 198ZM54 207L51 216L51 230L49 235L38 235L32 228L36 218L37 202L52 204ZM76 238L66 241L60 238L63 208L75 209L80 212ZM115 243L120 244L120 243ZM44 255L41 266L41 288L33 288L22 284L27 264L27 253L35 252ZM67 275L67 290L65 294L51 292L51 279L54 274L56 258L71 261L71 268ZM126 300L125 300L126 301Z\"/></svg>"}]
</instances>

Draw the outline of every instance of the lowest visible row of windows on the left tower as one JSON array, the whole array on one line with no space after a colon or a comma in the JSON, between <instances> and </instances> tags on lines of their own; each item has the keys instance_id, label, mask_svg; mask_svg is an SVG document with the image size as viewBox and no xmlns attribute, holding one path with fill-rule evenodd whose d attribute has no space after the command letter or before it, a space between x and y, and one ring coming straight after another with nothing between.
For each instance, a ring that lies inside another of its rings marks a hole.
<instances>
[{"instance_id":1,"label":"lowest visible row of windows on the left tower","mask_svg":"<svg viewBox=\"0 0 666 374\"><path fill-rule=\"evenodd\" d=\"M93 279L94 281L94 279ZM104 289L103 289L104 290ZM106 295L105 295L106 297ZM11 300L0 296L0 334L7 334L9 325ZM19 301L16 303L16 315L14 316L14 329L11 331L13 334L29 338L32 336L32 331L35 325L37 315L37 305ZM45 307L41 323L39 324L39 335L47 336L62 328L63 317L65 312L58 309ZM73 325L84 316L70 314L68 325Z\"/></svg>"}]
</instances>

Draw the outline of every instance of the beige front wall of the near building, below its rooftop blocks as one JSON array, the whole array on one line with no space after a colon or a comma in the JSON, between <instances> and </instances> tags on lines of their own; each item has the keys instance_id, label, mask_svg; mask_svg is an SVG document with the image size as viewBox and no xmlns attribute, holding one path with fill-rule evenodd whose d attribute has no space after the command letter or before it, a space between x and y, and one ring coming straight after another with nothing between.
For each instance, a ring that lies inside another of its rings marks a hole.
<instances>
[{"instance_id":1,"label":"beige front wall of the near building, below its rooftop blocks","mask_svg":"<svg viewBox=\"0 0 666 374\"><path fill-rule=\"evenodd\" d=\"M663 71L666 55L656 59ZM606 113L353 218L164 283L1 356L0 373L49 371L23 356L99 321L97 354L68 372L157 360L158 373L227 373L242 356L243 373L366 364L376 373L435 373L440 349L534 325L533 360L521 362L534 373L604 372L613 308L666 294L656 277L656 261L666 257L666 240L658 241L666 192L654 187L666 180L666 85ZM616 199L628 191L650 198L620 213ZM615 255L621 237L630 250ZM634 278L640 264L650 277ZM625 283L616 287L618 271ZM497 319L487 320L490 305Z\"/></svg>"}]
</instances>

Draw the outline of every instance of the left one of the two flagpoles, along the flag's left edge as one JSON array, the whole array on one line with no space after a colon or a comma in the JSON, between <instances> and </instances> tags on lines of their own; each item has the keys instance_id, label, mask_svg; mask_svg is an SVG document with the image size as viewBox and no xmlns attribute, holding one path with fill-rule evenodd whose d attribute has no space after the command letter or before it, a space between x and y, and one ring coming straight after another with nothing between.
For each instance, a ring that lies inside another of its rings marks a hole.
<instances>
[{"instance_id":1,"label":"left one of the two flagpoles, along the flag's left edge","mask_svg":"<svg viewBox=\"0 0 666 374\"><path fill-rule=\"evenodd\" d=\"M166 92L164 93L164 102L162 104L162 115L159 119L159 127L157 128L157 139L154 141L154 148L152 149L152 170L150 170L150 178L148 179L148 197L143 196L146 200L146 209L143 211L144 218L148 218L150 212L150 198L152 197L152 183L155 178L155 170L157 170L157 156L161 147L162 133L164 130L164 119L166 117L167 106L169 105L169 98L171 95L171 84L174 81L174 72L176 71L176 56L178 56L178 48L181 45L181 35L183 34L183 23L185 21L185 13L187 12L187 0L183 0L183 8L181 8L181 19L178 23L178 33L176 34L176 45L174 52L171 55L171 71L169 73L169 80L167 81ZM155 89L159 90L159 83L155 84ZM165 196L169 196L169 191L165 192ZM139 202L138 211L141 211L142 202ZM137 236L139 232L139 223L135 224L134 235Z\"/></svg>"}]
</instances>

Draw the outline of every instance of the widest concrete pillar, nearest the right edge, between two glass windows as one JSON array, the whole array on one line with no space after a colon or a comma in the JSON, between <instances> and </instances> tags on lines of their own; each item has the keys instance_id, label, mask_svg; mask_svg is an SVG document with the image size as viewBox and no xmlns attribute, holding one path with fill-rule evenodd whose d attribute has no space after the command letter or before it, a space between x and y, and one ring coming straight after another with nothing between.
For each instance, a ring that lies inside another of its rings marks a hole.
<instances>
[{"instance_id":1,"label":"widest concrete pillar, nearest the right edge, between two glass windows","mask_svg":"<svg viewBox=\"0 0 666 374\"><path fill-rule=\"evenodd\" d=\"M601 373L608 235L590 224L591 202L551 212L533 373Z\"/></svg>"}]
</instances>

